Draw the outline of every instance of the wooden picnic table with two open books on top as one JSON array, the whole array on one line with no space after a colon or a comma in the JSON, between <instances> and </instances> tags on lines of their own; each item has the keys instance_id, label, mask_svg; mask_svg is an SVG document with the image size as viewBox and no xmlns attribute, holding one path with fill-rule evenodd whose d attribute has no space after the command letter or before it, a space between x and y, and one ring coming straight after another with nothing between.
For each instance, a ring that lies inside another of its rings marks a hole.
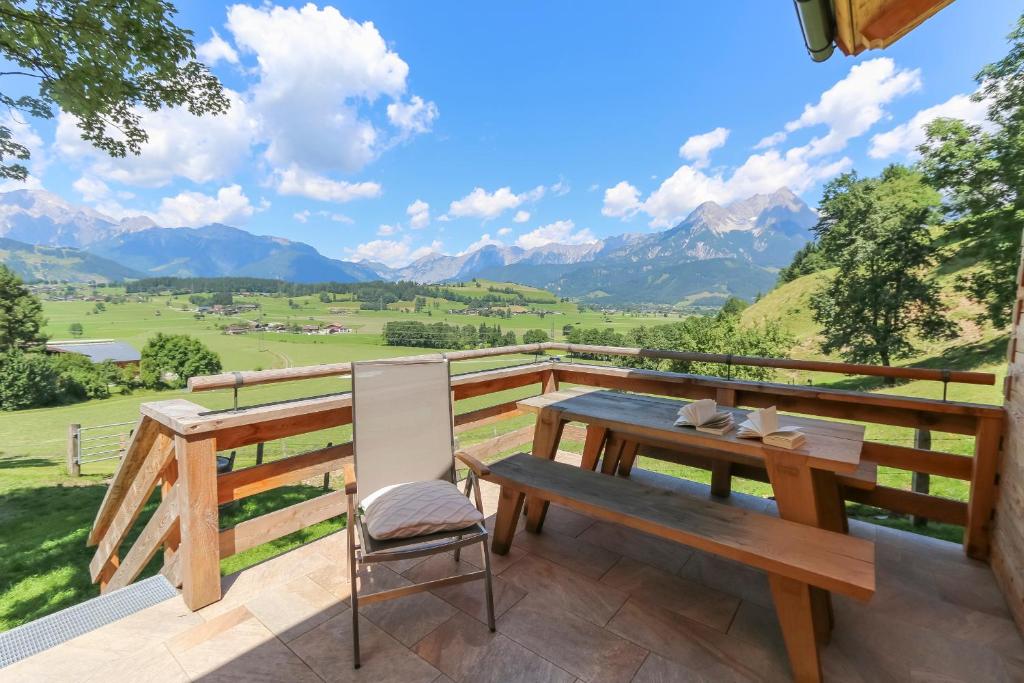
<instances>
[{"instance_id":1,"label":"wooden picnic table with two open books on top","mask_svg":"<svg viewBox=\"0 0 1024 683\"><path fill-rule=\"evenodd\" d=\"M552 459L558 449L563 427L568 422L587 425L583 467L594 469L603 451L602 471L629 475L640 444L670 450L696 452L712 459L756 464L768 471L768 477L783 519L834 531L845 530L843 500L837 475L844 483L872 487L869 468L861 467L864 428L826 420L780 417L783 426L799 427L807 441L797 450L778 449L756 439L736 436L735 430L721 436L676 427L679 409L687 401L623 393L618 391L572 388L525 398L518 402L522 411L537 413L534 455ZM748 411L729 410L738 424ZM539 530L544 524L547 505L527 502L527 529Z\"/></svg>"}]
</instances>

